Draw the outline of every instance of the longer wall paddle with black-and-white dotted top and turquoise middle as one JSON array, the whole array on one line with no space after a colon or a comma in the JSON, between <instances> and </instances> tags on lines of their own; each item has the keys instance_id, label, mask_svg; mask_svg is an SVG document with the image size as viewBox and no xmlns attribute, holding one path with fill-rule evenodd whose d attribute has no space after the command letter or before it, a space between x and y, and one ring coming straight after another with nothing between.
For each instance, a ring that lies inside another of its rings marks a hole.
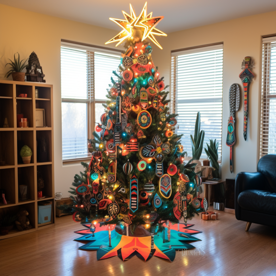
<instances>
[{"instance_id":1,"label":"longer wall paddle with black-and-white dotted top and turquoise middle","mask_svg":"<svg viewBox=\"0 0 276 276\"><path fill-rule=\"evenodd\" d=\"M235 111L239 110L239 85L232 84L229 89L230 116L227 124L226 145L230 147L230 172L233 171L232 146L235 144Z\"/></svg>"}]
</instances>

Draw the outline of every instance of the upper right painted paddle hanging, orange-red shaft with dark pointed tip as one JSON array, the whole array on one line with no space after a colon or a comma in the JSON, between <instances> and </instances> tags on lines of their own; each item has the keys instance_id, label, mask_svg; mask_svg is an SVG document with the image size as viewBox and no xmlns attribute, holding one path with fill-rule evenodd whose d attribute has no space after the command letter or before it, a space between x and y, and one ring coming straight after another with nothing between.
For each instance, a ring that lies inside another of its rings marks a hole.
<instances>
[{"instance_id":1,"label":"upper right painted paddle hanging, orange-red shaft with dark pointed tip","mask_svg":"<svg viewBox=\"0 0 276 276\"><path fill-rule=\"evenodd\" d=\"M247 118L248 118L248 87L249 83L252 82L254 74L249 68L254 67L254 61L251 57L245 57L241 64L241 69L244 69L239 77L241 79L242 85L244 86L244 140L247 138Z\"/></svg>"}]
</instances>

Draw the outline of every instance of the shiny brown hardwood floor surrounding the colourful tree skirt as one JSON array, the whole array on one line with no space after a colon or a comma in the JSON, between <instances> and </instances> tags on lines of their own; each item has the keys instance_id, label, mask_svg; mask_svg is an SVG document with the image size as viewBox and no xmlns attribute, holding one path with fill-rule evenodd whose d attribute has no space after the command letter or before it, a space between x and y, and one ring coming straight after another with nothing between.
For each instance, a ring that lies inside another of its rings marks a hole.
<instances>
[{"instance_id":1,"label":"shiny brown hardwood floor surrounding the colourful tree skirt","mask_svg":"<svg viewBox=\"0 0 276 276\"><path fill-rule=\"evenodd\" d=\"M246 232L246 222L219 212L217 221L191 221L191 228L203 231L196 235L202 241L193 243L203 254L182 256L177 251L172 263L155 256L147 262L136 256L124 262L117 256L97 261L96 251L78 250L81 243L73 241L79 236L73 231L84 227L72 216L62 216L55 227L0 240L0 275L275 276L275 228L252 224Z\"/></svg>"}]
</instances>

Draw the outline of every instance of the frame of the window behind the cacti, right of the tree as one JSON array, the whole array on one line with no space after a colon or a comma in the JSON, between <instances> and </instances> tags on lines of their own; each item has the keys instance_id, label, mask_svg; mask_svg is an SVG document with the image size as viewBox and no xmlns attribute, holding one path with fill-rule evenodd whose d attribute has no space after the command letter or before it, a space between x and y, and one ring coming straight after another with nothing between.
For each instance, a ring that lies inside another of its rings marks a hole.
<instances>
[{"instance_id":1,"label":"frame of the window behind the cacti, right of the tree","mask_svg":"<svg viewBox=\"0 0 276 276\"><path fill-rule=\"evenodd\" d=\"M178 105L178 100L177 100L177 70L178 70L178 64L177 64L177 57L185 54L193 54L193 53L200 53L204 51L214 51L214 50L219 50L223 49L223 42L218 42L218 43L212 43L212 44L207 44L207 45L200 45L200 46L195 46L195 47L188 47L188 48L183 48L183 49L177 49L177 50L172 50L171 51L171 71L170 71L170 112L171 113L177 113L177 105ZM223 76L223 72L222 72ZM222 83L223 87L223 83ZM222 88L222 93L223 93L223 88ZM206 101L207 103L208 101ZM223 108L223 95L221 96L221 108ZM222 112L221 112L221 131L222 131ZM220 158L218 159L218 164L221 164L222 161L222 133L221 133L221 154ZM204 147L203 147L204 151ZM203 153L202 151L202 153ZM200 160L206 160L206 158L200 158Z\"/></svg>"}]
</instances>

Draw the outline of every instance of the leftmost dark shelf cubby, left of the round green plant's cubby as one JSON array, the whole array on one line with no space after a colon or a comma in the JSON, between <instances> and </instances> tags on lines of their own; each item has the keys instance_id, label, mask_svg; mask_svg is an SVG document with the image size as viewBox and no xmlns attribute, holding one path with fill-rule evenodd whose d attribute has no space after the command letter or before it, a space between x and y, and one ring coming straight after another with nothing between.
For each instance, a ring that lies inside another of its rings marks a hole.
<instances>
[{"instance_id":1,"label":"leftmost dark shelf cubby, left of the round green plant's cubby","mask_svg":"<svg viewBox=\"0 0 276 276\"><path fill-rule=\"evenodd\" d=\"M14 165L14 131L0 131L0 161L3 167Z\"/></svg>"}]
</instances>

